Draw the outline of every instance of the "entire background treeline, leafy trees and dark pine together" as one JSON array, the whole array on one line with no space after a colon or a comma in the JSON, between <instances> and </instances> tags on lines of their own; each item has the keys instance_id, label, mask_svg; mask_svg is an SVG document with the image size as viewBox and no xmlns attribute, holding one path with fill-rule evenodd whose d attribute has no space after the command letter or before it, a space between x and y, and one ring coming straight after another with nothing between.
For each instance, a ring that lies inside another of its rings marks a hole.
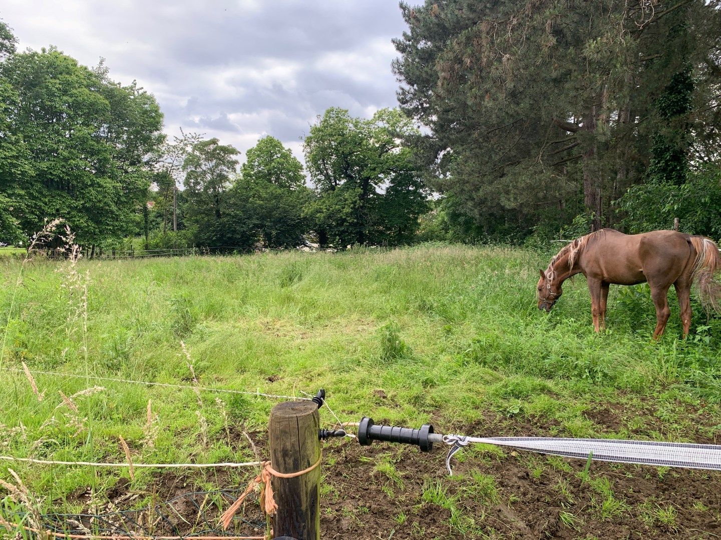
<instances>
[{"instance_id":1,"label":"entire background treeline, leafy trees and dark pine together","mask_svg":"<svg viewBox=\"0 0 721 540\"><path fill-rule=\"evenodd\" d=\"M104 250L721 237L719 1L401 9L400 109L328 109L305 170L270 136L167 138L154 96L0 23L0 242L55 217Z\"/></svg>"}]
</instances>

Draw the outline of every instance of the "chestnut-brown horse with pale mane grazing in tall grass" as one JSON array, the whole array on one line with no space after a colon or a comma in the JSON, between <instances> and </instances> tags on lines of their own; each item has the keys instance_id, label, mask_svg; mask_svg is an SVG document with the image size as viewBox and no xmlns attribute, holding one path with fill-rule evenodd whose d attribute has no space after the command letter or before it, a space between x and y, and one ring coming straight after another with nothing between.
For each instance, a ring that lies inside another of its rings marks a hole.
<instances>
[{"instance_id":1,"label":"chestnut-brown horse with pale mane grazing in tall grass","mask_svg":"<svg viewBox=\"0 0 721 540\"><path fill-rule=\"evenodd\" d=\"M684 338L691 326L691 284L696 281L704 307L718 310L721 285L714 281L721 271L721 254L709 238L652 230L640 235L625 235L614 229L602 229L582 236L562 248L541 270L538 283L539 310L551 311L561 297L561 285L575 274L583 274L590 291L593 328L606 328L606 300L609 284L635 285L648 282L656 307L656 330L660 338L668 322L668 288L676 288Z\"/></svg>"}]
</instances>

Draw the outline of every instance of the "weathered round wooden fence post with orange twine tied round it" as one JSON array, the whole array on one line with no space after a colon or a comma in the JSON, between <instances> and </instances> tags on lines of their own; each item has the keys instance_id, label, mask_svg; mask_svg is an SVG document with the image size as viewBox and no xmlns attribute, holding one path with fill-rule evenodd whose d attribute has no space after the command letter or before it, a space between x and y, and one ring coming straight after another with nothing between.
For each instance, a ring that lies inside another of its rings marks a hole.
<instances>
[{"instance_id":1,"label":"weathered round wooden fence post with orange twine tied round it","mask_svg":"<svg viewBox=\"0 0 721 540\"><path fill-rule=\"evenodd\" d=\"M321 455L318 405L312 401L279 403L270 411L270 462L281 473L302 471ZM278 510L273 536L297 540L320 539L320 466L293 478L273 477Z\"/></svg>"}]
</instances>

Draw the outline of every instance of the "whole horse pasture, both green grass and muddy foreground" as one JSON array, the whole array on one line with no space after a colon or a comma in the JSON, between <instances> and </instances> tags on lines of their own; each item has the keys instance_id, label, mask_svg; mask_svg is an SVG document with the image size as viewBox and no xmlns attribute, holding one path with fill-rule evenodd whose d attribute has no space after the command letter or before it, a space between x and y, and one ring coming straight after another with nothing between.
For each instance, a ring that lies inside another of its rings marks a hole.
<instances>
[{"instance_id":1,"label":"whole horse pasture, both green grass and muddy foreground","mask_svg":"<svg viewBox=\"0 0 721 540\"><path fill-rule=\"evenodd\" d=\"M343 421L430 421L438 432L475 436L721 442L721 320L694 303L691 336L681 341L671 298L665 336L653 343L647 289L614 286L609 329L596 335L583 276L565 284L550 315L537 310L538 269L548 258L532 251L425 245L34 261L19 287L20 261L2 259L3 455L124 462L122 436L136 463L255 459L243 431L265 454L273 400L92 379L193 385L189 363L202 387L282 395L323 387ZM82 377L36 374L38 400L25 374L7 371L23 361ZM321 413L335 423L329 410ZM444 449L326 443L323 537L721 534L719 473L586 468L488 446L456 456L448 477ZM183 490L244 487L255 476L136 469L131 480L126 469L1 462L0 478L12 482L9 467L43 512L70 513L139 508ZM0 501L5 493L0 488Z\"/></svg>"}]
</instances>

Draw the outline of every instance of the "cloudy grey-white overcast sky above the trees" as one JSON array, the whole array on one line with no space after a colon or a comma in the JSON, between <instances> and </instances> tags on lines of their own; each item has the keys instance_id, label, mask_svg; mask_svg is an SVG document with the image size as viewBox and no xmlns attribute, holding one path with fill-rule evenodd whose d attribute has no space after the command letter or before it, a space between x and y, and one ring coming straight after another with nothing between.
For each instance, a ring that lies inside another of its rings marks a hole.
<instances>
[{"instance_id":1,"label":"cloudy grey-white overcast sky above the trees","mask_svg":"<svg viewBox=\"0 0 721 540\"><path fill-rule=\"evenodd\" d=\"M86 66L136 79L165 129L242 150L273 135L302 160L300 138L332 106L394 107L397 0L2 0L19 49L56 45Z\"/></svg>"}]
</instances>

